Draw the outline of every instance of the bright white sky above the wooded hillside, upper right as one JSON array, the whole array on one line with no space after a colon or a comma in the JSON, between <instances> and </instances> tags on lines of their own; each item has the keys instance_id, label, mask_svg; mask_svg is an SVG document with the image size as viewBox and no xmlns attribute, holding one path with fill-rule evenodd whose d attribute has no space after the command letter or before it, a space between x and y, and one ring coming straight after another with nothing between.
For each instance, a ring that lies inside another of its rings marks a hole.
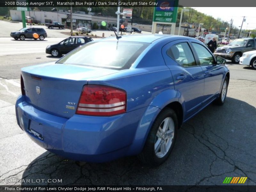
<instances>
[{"instance_id":1,"label":"bright white sky above the wooded hillside, upper right","mask_svg":"<svg viewBox=\"0 0 256 192\"><path fill-rule=\"evenodd\" d=\"M217 19L218 17L224 21L233 19L233 26L239 28L242 25L243 17L246 21L243 23L242 29L256 29L255 7L192 7L196 11L210 15ZM247 25L248 23L248 25Z\"/></svg>"}]
</instances>

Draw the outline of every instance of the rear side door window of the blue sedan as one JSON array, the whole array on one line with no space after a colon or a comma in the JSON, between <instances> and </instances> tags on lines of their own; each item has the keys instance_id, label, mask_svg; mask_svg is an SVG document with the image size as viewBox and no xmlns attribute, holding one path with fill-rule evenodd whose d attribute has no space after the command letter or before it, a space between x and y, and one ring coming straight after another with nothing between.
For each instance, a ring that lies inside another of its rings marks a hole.
<instances>
[{"instance_id":1,"label":"rear side door window of the blue sedan","mask_svg":"<svg viewBox=\"0 0 256 192\"><path fill-rule=\"evenodd\" d=\"M166 54L183 67L196 66L196 61L188 43L172 45Z\"/></svg>"}]
</instances>

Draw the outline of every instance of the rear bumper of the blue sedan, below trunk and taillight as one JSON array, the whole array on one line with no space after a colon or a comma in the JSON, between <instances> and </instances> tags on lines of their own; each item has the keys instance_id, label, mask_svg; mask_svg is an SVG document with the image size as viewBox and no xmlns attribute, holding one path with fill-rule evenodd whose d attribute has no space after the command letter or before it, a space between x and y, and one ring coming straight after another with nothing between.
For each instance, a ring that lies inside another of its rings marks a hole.
<instances>
[{"instance_id":1,"label":"rear bumper of the blue sedan, below trunk and taillight","mask_svg":"<svg viewBox=\"0 0 256 192\"><path fill-rule=\"evenodd\" d=\"M24 96L18 98L15 108L20 128L34 142L79 161L106 162L136 155L143 148L150 126L139 129L146 108L111 117L74 115L67 119L34 108Z\"/></svg>"}]
</instances>

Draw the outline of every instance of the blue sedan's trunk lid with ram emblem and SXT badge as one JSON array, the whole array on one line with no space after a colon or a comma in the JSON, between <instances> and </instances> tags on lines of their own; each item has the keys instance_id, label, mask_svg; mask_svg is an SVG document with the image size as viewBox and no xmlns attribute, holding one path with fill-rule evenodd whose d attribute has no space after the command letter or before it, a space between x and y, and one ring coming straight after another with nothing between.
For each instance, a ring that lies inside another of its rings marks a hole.
<instances>
[{"instance_id":1,"label":"blue sedan's trunk lid with ram emblem and SXT badge","mask_svg":"<svg viewBox=\"0 0 256 192\"><path fill-rule=\"evenodd\" d=\"M49 63L22 68L21 75L28 104L70 118L75 114L83 86L92 78L116 72L113 69Z\"/></svg>"}]
</instances>

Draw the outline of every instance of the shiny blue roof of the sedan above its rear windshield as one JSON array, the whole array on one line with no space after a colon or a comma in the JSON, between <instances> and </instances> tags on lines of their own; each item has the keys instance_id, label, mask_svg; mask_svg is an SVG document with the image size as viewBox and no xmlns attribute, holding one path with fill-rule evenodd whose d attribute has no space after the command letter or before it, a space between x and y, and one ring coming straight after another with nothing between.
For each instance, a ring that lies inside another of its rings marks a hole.
<instances>
[{"instance_id":1,"label":"shiny blue roof of the sedan above its rear windshield","mask_svg":"<svg viewBox=\"0 0 256 192\"><path fill-rule=\"evenodd\" d=\"M134 42L142 42L142 43L153 43L156 40L179 40L179 39L193 39L191 37L186 36L177 36L177 35L159 35L159 34L149 34L149 35L127 35L122 36L122 38L119 39L119 41L134 41ZM108 37L101 39L101 41L116 41L116 37Z\"/></svg>"}]
</instances>

